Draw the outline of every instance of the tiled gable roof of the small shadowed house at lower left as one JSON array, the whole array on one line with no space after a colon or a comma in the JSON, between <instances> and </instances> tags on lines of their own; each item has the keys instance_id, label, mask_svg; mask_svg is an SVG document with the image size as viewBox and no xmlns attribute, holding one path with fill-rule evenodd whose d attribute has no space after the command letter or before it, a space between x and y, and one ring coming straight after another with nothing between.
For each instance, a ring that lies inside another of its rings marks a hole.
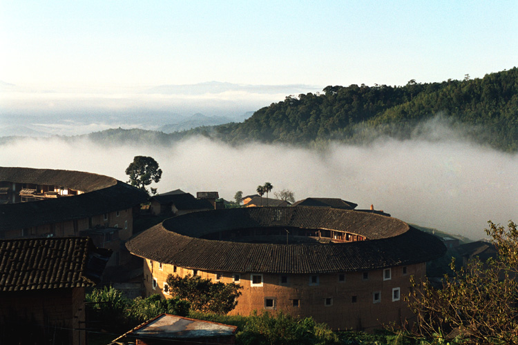
<instances>
[{"instance_id":1,"label":"tiled gable roof of the small shadowed house at lower left","mask_svg":"<svg viewBox=\"0 0 518 345\"><path fill-rule=\"evenodd\" d=\"M87 237L0 241L0 291L94 286L111 255Z\"/></svg>"}]
</instances>

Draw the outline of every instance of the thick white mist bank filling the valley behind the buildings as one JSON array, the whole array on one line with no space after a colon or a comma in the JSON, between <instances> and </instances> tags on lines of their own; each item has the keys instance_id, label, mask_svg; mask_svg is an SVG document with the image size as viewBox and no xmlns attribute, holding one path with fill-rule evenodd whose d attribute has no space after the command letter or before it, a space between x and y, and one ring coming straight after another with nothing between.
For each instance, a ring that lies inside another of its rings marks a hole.
<instances>
[{"instance_id":1,"label":"thick white mist bank filling the valley behind the buildings","mask_svg":"<svg viewBox=\"0 0 518 345\"><path fill-rule=\"evenodd\" d=\"M251 143L231 147L203 137L171 146L100 146L88 139L17 139L0 146L1 166L83 170L126 181L135 155L154 157L164 171L159 193L217 190L232 200L266 181L296 199L339 197L358 208L384 210L412 224L471 239L487 221L518 220L518 155L454 140L378 140L309 150ZM439 135L441 137L441 135ZM273 196L273 195L271 195Z\"/></svg>"}]
</instances>

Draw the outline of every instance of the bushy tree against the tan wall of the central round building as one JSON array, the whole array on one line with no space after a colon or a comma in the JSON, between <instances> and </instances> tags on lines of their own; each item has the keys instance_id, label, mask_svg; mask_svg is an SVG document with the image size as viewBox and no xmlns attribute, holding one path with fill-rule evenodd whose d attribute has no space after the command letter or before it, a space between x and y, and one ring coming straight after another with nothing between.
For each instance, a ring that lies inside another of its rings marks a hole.
<instances>
[{"instance_id":1,"label":"bushy tree against the tan wall of the central round building","mask_svg":"<svg viewBox=\"0 0 518 345\"><path fill-rule=\"evenodd\" d=\"M194 311L227 314L238 305L242 286L237 284L213 283L199 275L169 275L167 284L171 295L188 301Z\"/></svg>"}]
</instances>

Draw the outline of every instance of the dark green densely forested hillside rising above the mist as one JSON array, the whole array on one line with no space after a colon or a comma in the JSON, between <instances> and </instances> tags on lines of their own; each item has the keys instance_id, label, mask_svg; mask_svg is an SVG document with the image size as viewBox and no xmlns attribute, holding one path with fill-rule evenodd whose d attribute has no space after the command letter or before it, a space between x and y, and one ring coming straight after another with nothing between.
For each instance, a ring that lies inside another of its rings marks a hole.
<instances>
[{"instance_id":1,"label":"dark green densely forested hillside rising above the mist","mask_svg":"<svg viewBox=\"0 0 518 345\"><path fill-rule=\"evenodd\" d=\"M518 68L441 83L327 86L323 93L272 103L242 124L217 126L211 135L233 144L408 139L419 135L419 124L437 116L481 144L518 150Z\"/></svg>"}]
</instances>

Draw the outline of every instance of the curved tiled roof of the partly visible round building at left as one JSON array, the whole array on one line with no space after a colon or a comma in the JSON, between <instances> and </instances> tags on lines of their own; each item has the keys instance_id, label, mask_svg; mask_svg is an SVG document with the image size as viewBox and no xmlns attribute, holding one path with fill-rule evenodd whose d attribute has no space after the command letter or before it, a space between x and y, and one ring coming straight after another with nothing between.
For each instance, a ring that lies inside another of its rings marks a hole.
<instances>
[{"instance_id":1,"label":"curved tiled roof of the partly visible round building at left","mask_svg":"<svg viewBox=\"0 0 518 345\"><path fill-rule=\"evenodd\" d=\"M41 171L38 173L38 170ZM34 177L35 180L30 181L30 177ZM81 182L81 178L86 181ZM0 230L29 228L56 221L102 215L131 208L148 199L146 193L138 188L111 177L88 172L0 167L0 181L56 184L87 192L57 199L0 205Z\"/></svg>"}]
</instances>

